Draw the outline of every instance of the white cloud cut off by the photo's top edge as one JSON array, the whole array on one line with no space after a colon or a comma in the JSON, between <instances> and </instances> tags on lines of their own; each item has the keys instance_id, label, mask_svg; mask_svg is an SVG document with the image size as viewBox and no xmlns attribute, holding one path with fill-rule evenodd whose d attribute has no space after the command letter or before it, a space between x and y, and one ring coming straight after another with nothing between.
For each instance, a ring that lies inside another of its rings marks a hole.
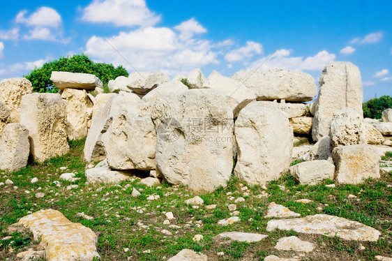
<instances>
[{"instance_id":1,"label":"white cloud cut off by the photo's top edge","mask_svg":"<svg viewBox=\"0 0 392 261\"><path fill-rule=\"evenodd\" d=\"M118 27L149 27L160 21L160 16L146 7L144 0L93 0L83 10L82 20L108 22Z\"/></svg>"}]
</instances>

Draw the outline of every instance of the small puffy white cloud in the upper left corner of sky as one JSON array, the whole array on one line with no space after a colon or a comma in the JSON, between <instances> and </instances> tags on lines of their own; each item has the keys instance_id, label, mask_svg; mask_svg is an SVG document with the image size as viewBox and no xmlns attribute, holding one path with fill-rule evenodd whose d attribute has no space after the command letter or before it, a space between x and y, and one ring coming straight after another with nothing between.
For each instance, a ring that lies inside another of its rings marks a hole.
<instances>
[{"instance_id":1,"label":"small puffy white cloud in the upper left corner of sky","mask_svg":"<svg viewBox=\"0 0 392 261\"><path fill-rule=\"evenodd\" d=\"M53 27L61 24L61 16L56 10L49 7L41 7L29 17L25 17L27 10L20 11L16 16L16 22L27 24L32 27Z\"/></svg>"}]
</instances>

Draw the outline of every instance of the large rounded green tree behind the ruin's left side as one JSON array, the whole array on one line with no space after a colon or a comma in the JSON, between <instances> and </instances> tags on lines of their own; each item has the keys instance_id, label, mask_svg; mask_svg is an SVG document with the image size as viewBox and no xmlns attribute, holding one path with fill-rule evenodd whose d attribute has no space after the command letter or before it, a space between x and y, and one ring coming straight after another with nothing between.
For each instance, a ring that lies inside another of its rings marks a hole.
<instances>
[{"instance_id":1,"label":"large rounded green tree behind the ruin's left side","mask_svg":"<svg viewBox=\"0 0 392 261\"><path fill-rule=\"evenodd\" d=\"M96 75L107 87L109 80L114 80L121 75L128 77L128 72L123 66L114 67L112 64L94 63L86 54L76 54L72 57L61 57L58 60L49 61L40 68L34 68L25 75L34 92L57 92L53 86L50 75L53 70L66 71L70 73L91 73Z\"/></svg>"}]
</instances>

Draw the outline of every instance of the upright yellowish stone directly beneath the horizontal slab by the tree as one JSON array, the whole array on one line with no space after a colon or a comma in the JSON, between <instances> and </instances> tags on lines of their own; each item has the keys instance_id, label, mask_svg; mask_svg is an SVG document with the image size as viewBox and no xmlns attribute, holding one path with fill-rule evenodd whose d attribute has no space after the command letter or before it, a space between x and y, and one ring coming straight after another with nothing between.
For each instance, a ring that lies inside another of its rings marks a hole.
<instances>
[{"instance_id":1,"label":"upright yellowish stone directly beneath the horizontal slab by the tree","mask_svg":"<svg viewBox=\"0 0 392 261\"><path fill-rule=\"evenodd\" d=\"M87 122L91 115L93 104L85 90L66 88L61 94L66 100L67 135L68 140L80 140L87 135Z\"/></svg>"}]
</instances>

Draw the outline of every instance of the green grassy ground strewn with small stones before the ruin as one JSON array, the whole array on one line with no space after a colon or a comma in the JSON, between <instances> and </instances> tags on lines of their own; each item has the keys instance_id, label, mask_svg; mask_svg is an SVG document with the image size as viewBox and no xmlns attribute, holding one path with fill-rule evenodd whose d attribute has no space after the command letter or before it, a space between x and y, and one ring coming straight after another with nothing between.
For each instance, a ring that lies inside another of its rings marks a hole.
<instances>
[{"instance_id":1,"label":"green grassy ground strewn with small stones before the ruin","mask_svg":"<svg viewBox=\"0 0 392 261\"><path fill-rule=\"evenodd\" d=\"M72 142L70 153L64 157L52 158L42 165L32 163L18 172L0 172L0 182L13 181L13 186L0 186L0 260L13 260L16 253L30 248L33 244L29 232L9 232L8 226L22 216L40 209L57 209L70 221L79 222L98 234L98 252L102 260L165 260L176 255L183 248L200 251L209 260L264 260L266 255L280 257L297 256L301 260L375 260L375 255L392 256L392 178L368 180L353 186L326 187L332 181L317 186L303 186L286 175L271 182L266 190L260 186L248 186L233 178L226 188L215 193L202 195L204 206L193 209L184 200L193 197L186 188L161 184L147 188L137 179L123 181L120 185L92 186L86 184L82 160L83 141ZM60 170L60 167L68 167ZM59 181L64 172L76 172L78 188L67 190L69 181ZM31 184L33 177L38 182ZM59 181L59 186L56 182ZM284 186L284 187L282 187ZM140 197L131 197L133 188L142 192ZM36 198L38 192L45 197ZM257 197L269 193L269 197ZM348 199L348 195L356 198ZM158 200L147 200L149 195L159 195ZM227 204L244 197L245 202L237 203L241 222L227 227L217 225L218 220L230 216ZM295 202L302 198L313 200L309 204ZM264 218L269 202L283 204L301 216L331 214L359 221L382 231L377 242L345 241L336 237L299 234L292 231L266 232ZM217 204L208 210L206 205ZM172 211L174 220L164 225L165 213ZM86 220L76 214L92 216ZM163 233L167 230L171 235ZM257 232L269 237L259 243L216 240L216 234L224 231ZM204 239L194 242L195 234ZM311 241L317 248L312 253L299 254L293 251L277 251L273 247L280 237L296 235ZM364 246L364 250L360 250ZM126 251L124 251L124 248ZM218 252L225 255L218 256Z\"/></svg>"}]
</instances>

